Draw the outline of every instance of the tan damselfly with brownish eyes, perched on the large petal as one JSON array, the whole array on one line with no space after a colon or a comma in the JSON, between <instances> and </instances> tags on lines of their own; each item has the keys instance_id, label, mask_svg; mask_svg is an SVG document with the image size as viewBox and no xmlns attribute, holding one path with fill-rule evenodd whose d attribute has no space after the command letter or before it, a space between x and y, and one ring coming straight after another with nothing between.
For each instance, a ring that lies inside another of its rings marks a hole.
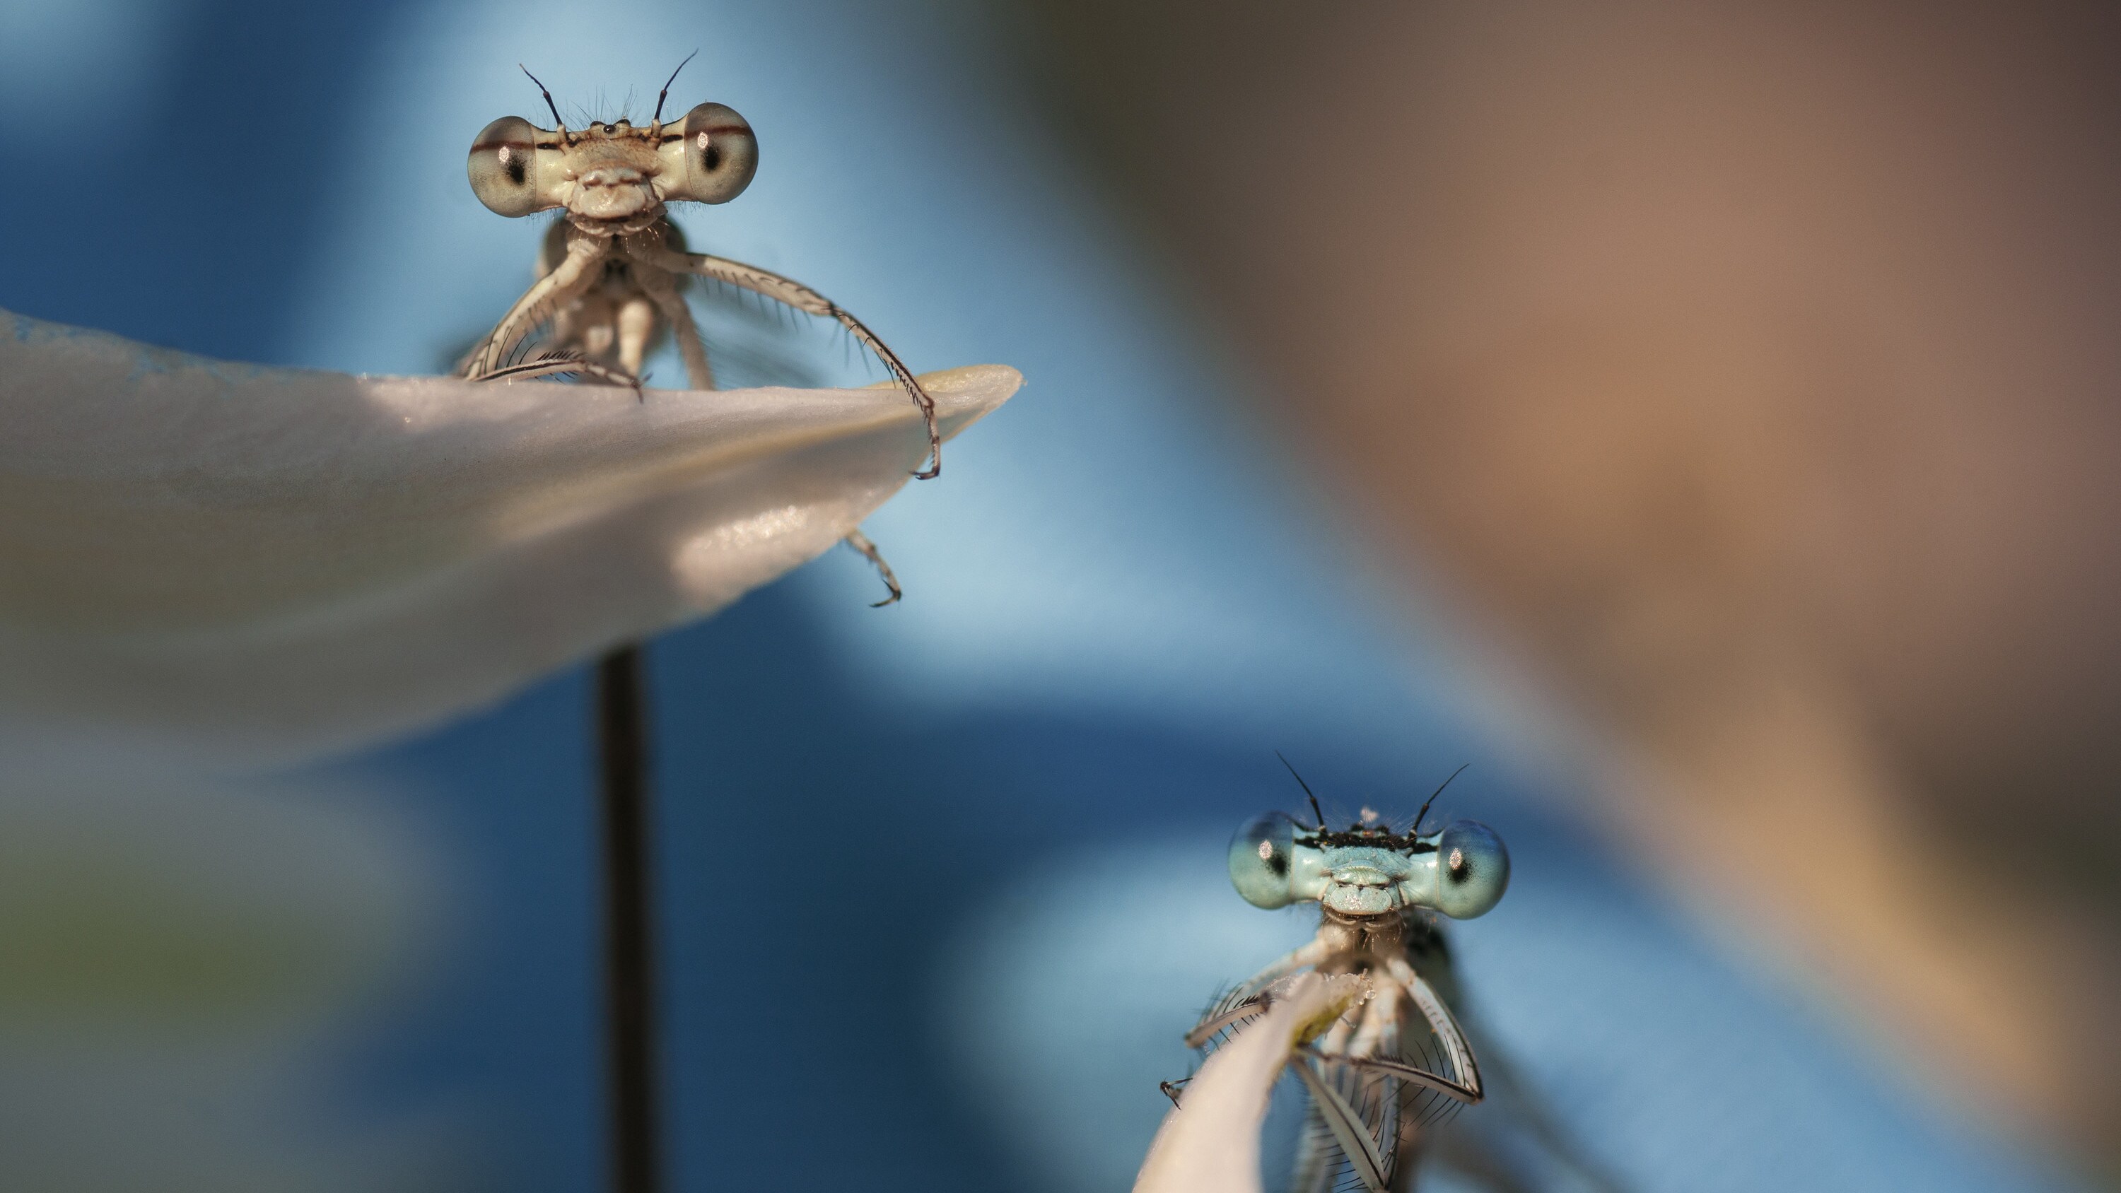
<instances>
[{"instance_id":1,"label":"tan damselfly with brownish eyes, perched on the large petal","mask_svg":"<svg viewBox=\"0 0 2121 1193\"><path fill-rule=\"evenodd\" d=\"M687 57L685 61L691 61ZM679 70L685 70L685 61ZM471 142L471 191L492 212L528 216L560 208L566 218L551 225L539 254L539 280L515 299L509 314L458 362L469 379L541 377L579 373L638 390L649 345L670 331L685 360L691 388L713 390L715 371L706 360L683 284L708 278L764 295L804 314L838 320L906 388L927 420L927 479L942 473L942 439L935 403L884 341L853 314L817 290L740 261L687 252L685 237L670 222L668 203L728 203L751 184L759 167L759 142L751 125L723 104L698 104L681 121L664 123L670 72L655 95L655 114L634 127L626 119L592 121L568 129L551 91L530 74L554 129L522 117L501 117ZM532 337L539 354L522 358ZM891 591L878 604L899 600L899 585L859 530L846 545L861 551Z\"/></svg>"}]
</instances>

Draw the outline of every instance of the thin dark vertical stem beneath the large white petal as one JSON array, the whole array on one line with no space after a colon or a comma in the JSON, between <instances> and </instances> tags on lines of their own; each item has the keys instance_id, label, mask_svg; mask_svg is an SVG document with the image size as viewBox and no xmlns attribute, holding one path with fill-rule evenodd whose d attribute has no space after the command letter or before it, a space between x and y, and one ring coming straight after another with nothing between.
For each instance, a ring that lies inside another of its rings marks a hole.
<instances>
[{"instance_id":1,"label":"thin dark vertical stem beneath the large white petal","mask_svg":"<svg viewBox=\"0 0 2121 1193\"><path fill-rule=\"evenodd\" d=\"M596 663L613 1193L662 1189L655 1146L655 937L649 913L649 725L643 680L641 646L619 646Z\"/></svg>"}]
</instances>

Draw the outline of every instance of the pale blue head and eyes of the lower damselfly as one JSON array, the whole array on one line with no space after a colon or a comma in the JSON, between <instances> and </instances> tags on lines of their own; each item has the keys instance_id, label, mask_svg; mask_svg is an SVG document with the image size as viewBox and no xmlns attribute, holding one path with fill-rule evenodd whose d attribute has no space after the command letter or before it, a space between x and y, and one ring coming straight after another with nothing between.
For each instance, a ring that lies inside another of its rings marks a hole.
<instances>
[{"instance_id":1,"label":"pale blue head and eyes of the lower damselfly","mask_svg":"<svg viewBox=\"0 0 2121 1193\"><path fill-rule=\"evenodd\" d=\"M1393 833L1377 820L1336 833L1268 812L1230 839L1230 884L1254 907L1317 901L1357 918L1427 907L1472 920L1510 888L1510 850L1478 820L1427 835L1419 822Z\"/></svg>"}]
</instances>

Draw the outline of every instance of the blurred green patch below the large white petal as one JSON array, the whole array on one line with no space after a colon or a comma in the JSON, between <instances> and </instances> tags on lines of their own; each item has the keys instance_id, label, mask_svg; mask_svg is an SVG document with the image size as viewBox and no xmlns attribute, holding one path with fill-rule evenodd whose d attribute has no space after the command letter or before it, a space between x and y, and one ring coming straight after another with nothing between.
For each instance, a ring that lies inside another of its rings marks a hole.
<instances>
[{"instance_id":1,"label":"blurred green patch below the large white petal","mask_svg":"<svg viewBox=\"0 0 2121 1193\"><path fill-rule=\"evenodd\" d=\"M32 812L17 793L0 807L0 1034L286 1030L358 998L388 964L401 894L363 888L356 858L282 869L259 858L269 845L246 848L259 826L242 833L210 797L45 799ZM142 824L157 814L161 831Z\"/></svg>"}]
</instances>

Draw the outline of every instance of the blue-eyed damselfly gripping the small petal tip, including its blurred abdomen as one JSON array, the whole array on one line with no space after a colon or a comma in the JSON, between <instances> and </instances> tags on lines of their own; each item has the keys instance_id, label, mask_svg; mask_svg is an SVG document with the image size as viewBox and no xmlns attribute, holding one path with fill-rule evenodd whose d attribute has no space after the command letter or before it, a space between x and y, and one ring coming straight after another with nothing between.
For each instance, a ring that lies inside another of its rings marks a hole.
<instances>
[{"instance_id":1,"label":"blue-eyed damselfly gripping the small petal tip, including its blurred abdomen","mask_svg":"<svg viewBox=\"0 0 2121 1193\"><path fill-rule=\"evenodd\" d=\"M1421 831L1451 780L1404 833L1368 807L1347 829L1328 829L1311 786L1302 776L1296 782L1315 824L1268 812L1239 829L1230 882L1258 907L1315 901L1317 934L1215 1000L1186 1034L1188 1045L1215 1049L1307 968L1362 983L1345 1013L1292 1040L1290 1068L1309 1102L1290 1191L1408 1193L1434 1159L1500 1193L1623 1193L1478 1023L1461 1026L1466 1002L1440 918L1472 920L1495 907L1510 886L1502 837L1474 820ZM1164 1083L1173 1102L1179 1085ZM1487 1102L1480 1123L1432 1132L1474 1102Z\"/></svg>"}]
</instances>

